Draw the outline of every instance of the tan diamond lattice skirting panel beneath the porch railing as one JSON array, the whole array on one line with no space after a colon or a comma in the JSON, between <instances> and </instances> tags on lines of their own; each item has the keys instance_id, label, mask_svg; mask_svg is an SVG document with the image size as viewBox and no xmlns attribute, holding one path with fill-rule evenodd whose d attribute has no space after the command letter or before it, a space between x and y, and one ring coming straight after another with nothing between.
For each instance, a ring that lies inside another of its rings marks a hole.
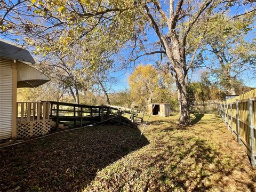
<instances>
[{"instance_id":1,"label":"tan diamond lattice skirting panel beneath the porch railing","mask_svg":"<svg viewBox=\"0 0 256 192\"><path fill-rule=\"evenodd\" d=\"M42 119L31 122L17 123L17 138L28 138L49 133L52 119Z\"/></svg>"}]
</instances>

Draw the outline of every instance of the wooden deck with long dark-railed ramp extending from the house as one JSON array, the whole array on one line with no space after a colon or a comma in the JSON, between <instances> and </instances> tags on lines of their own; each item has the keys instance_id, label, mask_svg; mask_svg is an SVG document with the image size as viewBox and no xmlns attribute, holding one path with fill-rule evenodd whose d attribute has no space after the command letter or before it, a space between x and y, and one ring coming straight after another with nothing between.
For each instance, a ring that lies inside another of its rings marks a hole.
<instances>
[{"instance_id":1,"label":"wooden deck with long dark-railed ramp extending from the house","mask_svg":"<svg viewBox=\"0 0 256 192\"><path fill-rule=\"evenodd\" d=\"M143 121L134 111L122 110L110 106L89 106L75 103L41 101L17 102L17 137L27 138L44 135L51 129L66 126L79 127L95 122L102 122L113 116L129 114L131 121Z\"/></svg>"}]
</instances>

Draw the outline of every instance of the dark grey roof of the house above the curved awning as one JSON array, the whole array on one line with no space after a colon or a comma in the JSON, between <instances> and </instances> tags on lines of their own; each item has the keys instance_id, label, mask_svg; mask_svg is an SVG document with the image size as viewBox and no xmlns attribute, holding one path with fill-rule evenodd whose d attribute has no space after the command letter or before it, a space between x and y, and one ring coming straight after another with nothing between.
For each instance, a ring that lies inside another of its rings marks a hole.
<instances>
[{"instance_id":1,"label":"dark grey roof of the house above the curved awning","mask_svg":"<svg viewBox=\"0 0 256 192\"><path fill-rule=\"evenodd\" d=\"M0 39L0 56L19 61L36 63L29 51L5 39Z\"/></svg>"}]
</instances>

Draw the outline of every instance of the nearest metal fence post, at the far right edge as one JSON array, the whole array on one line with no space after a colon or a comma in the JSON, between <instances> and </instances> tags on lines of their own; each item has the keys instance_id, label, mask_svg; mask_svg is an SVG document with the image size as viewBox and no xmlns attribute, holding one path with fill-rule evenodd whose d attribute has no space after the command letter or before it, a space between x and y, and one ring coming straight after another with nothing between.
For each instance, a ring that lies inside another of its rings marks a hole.
<instances>
[{"instance_id":1,"label":"nearest metal fence post, at the far right edge","mask_svg":"<svg viewBox=\"0 0 256 192\"><path fill-rule=\"evenodd\" d=\"M256 165L256 161L255 161L255 154L254 154L255 142L254 142L254 125L253 125L253 119L252 119L252 115L253 115L252 98L248 99L248 105L249 105L249 124L250 124L249 128L250 128L251 164L252 164L252 167L254 167Z\"/></svg>"}]
</instances>

